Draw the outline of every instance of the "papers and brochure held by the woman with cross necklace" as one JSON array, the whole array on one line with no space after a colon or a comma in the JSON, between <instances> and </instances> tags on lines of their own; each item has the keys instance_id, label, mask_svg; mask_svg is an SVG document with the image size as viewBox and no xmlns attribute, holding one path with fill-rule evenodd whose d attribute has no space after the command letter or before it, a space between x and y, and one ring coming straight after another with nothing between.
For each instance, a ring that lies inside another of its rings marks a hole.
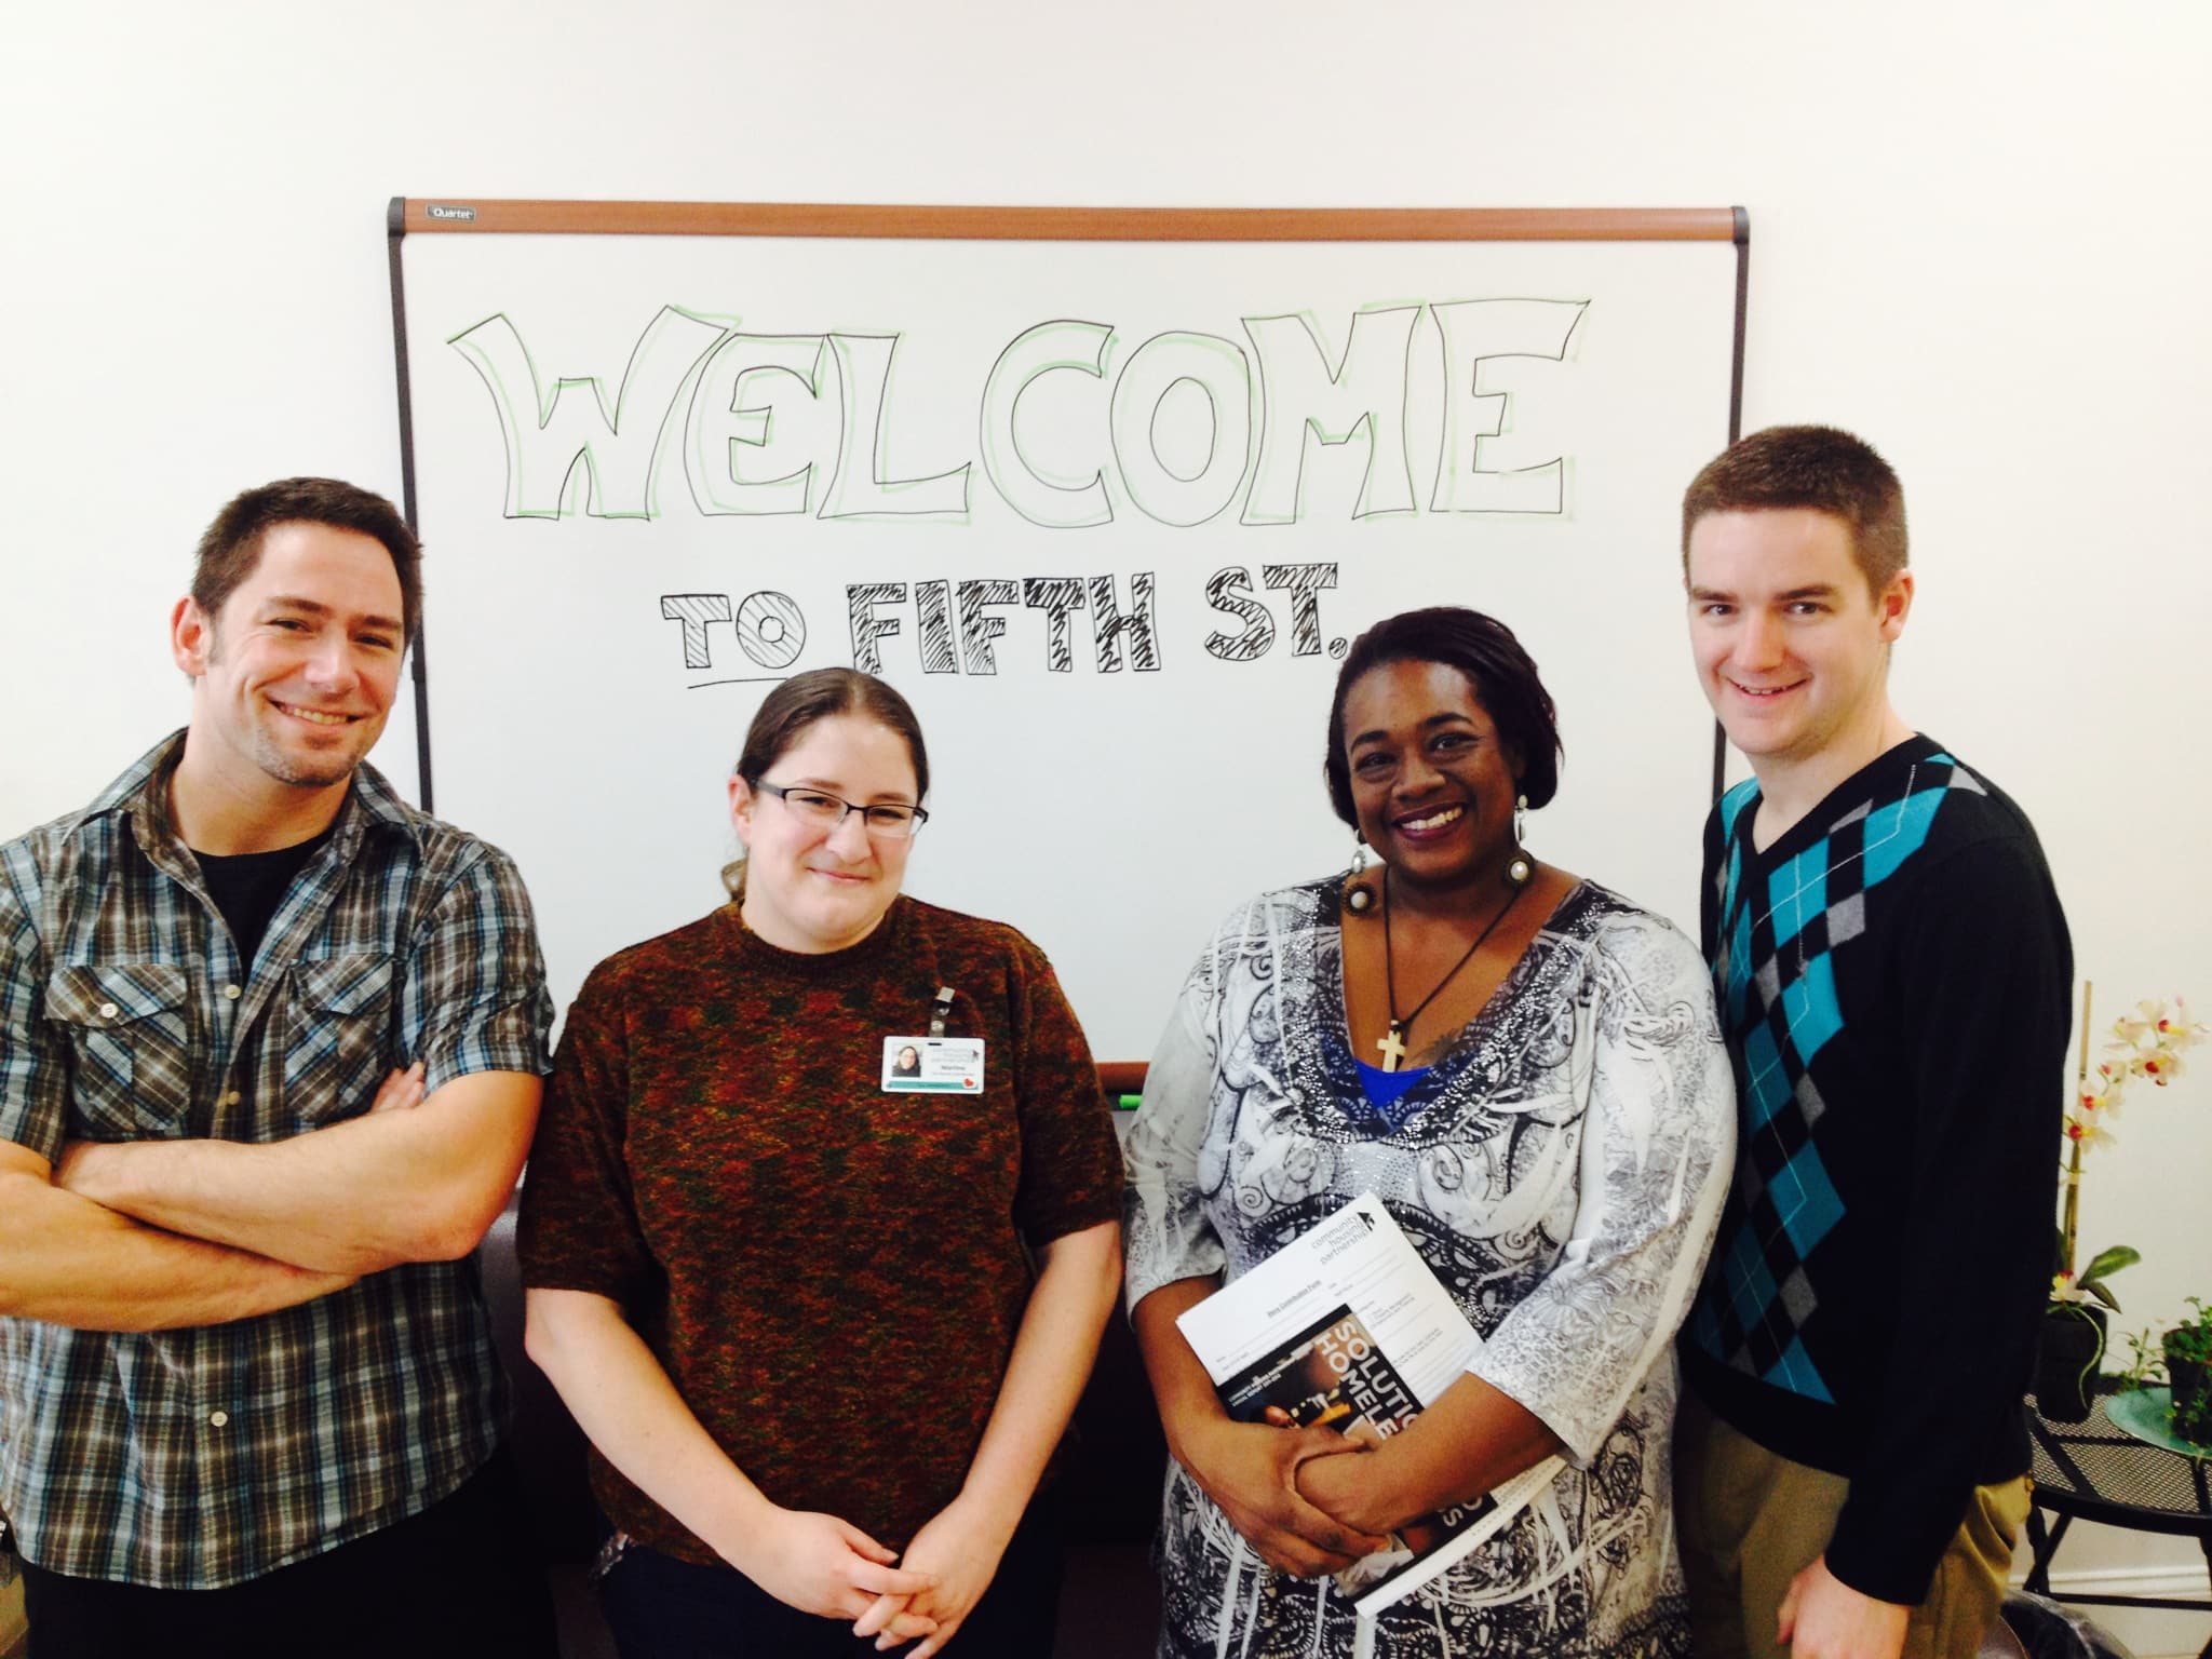
<instances>
[{"instance_id":1,"label":"papers and brochure held by the woman with cross necklace","mask_svg":"<svg viewBox=\"0 0 2212 1659\"><path fill-rule=\"evenodd\" d=\"M1177 1318L1239 1422L1323 1427L1387 1440L1420 1416L1482 1347L1411 1241L1371 1192L1283 1245ZM1493 1493L1422 1515L1391 1548L1336 1575L1374 1615L1484 1540L1559 1473L1546 1458Z\"/></svg>"}]
</instances>

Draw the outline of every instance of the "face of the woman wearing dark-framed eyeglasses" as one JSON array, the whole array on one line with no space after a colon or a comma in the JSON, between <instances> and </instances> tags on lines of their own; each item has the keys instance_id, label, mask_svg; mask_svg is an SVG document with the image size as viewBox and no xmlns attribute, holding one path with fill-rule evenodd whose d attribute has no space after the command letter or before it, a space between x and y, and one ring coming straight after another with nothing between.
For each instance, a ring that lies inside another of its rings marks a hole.
<instances>
[{"instance_id":1,"label":"face of the woman wearing dark-framed eyeglasses","mask_svg":"<svg viewBox=\"0 0 2212 1659\"><path fill-rule=\"evenodd\" d=\"M907 739L865 714L807 726L761 774L858 805L918 805ZM876 931L907 874L911 841L872 836L858 812L836 825L730 779L730 823L745 843L745 927L785 951L843 951Z\"/></svg>"}]
</instances>

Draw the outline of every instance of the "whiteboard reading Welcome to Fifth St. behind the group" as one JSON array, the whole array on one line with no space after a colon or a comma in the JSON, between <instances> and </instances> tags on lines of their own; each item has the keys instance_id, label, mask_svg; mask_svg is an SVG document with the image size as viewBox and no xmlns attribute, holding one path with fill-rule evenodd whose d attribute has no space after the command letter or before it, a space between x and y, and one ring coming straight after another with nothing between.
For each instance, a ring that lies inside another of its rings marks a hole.
<instances>
[{"instance_id":1,"label":"whiteboard reading Welcome to Fifth St. behind the group","mask_svg":"<svg viewBox=\"0 0 2212 1659\"><path fill-rule=\"evenodd\" d=\"M719 902L748 719L852 664L929 741L907 889L1144 1057L1230 905L1343 869L1336 659L1425 604L1557 699L1531 849L1694 925L1741 212L648 208L394 204L425 792L562 1006Z\"/></svg>"}]
</instances>

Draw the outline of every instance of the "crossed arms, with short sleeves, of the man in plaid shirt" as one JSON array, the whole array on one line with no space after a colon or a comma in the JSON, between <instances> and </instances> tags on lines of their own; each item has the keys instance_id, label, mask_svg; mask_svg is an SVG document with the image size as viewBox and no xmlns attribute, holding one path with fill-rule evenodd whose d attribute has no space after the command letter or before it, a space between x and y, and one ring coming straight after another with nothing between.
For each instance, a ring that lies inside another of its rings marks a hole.
<instances>
[{"instance_id":1,"label":"crossed arms, with short sleeves, of the man in plaid shirt","mask_svg":"<svg viewBox=\"0 0 2212 1659\"><path fill-rule=\"evenodd\" d=\"M538 1124L518 1035L544 998L529 898L476 858L411 945L427 1024L365 1115L283 1141L64 1141L69 1046L46 1020L29 863L0 869L0 1316L104 1332L252 1318L409 1261L465 1256ZM487 920L489 918L489 920ZM367 1084L356 1084L367 1088ZM354 1102L341 1099L338 1106Z\"/></svg>"}]
</instances>

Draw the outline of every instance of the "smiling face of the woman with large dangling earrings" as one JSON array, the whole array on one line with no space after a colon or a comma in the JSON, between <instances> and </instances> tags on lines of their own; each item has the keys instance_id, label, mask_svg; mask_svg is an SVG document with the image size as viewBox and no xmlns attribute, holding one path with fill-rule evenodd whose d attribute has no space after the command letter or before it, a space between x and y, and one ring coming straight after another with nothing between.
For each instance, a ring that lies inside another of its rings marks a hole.
<instances>
[{"instance_id":1,"label":"smiling face of the woman with large dangling earrings","mask_svg":"<svg viewBox=\"0 0 2212 1659\"><path fill-rule=\"evenodd\" d=\"M1367 845L1413 885L1502 880L1513 847L1515 759L1458 668L1387 661L1345 692L1352 810Z\"/></svg>"}]
</instances>

